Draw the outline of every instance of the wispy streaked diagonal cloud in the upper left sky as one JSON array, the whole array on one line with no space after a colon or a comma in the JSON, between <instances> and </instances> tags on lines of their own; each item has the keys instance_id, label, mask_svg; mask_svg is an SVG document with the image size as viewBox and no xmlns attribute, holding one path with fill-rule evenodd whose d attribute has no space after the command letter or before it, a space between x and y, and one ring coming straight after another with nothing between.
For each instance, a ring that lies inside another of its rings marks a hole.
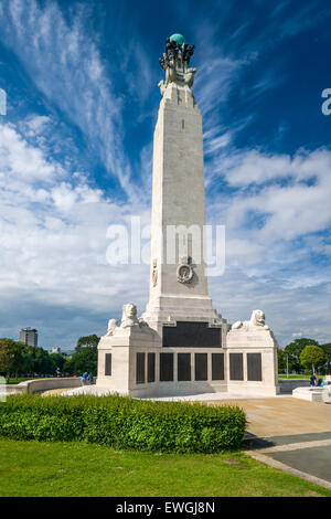
<instances>
[{"instance_id":1,"label":"wispy streaked diagonal cloud in the upper left sky","mask_svg":"<svg viewBox=\"0 0 331 519\"><path fill-rule=\"evenodd\" d=\"M55 2L41 7L35 0L11 0L0 24L6 44L35 86L81 129L86 146L99 153L131 201L138 201L142 192L129 181L131 168L122 148L122 99L109 78L111 62L105 63L97 38L86 31L88 8L81 4L70 17L71 22ZM34 119L30 131L45 123Z\"/></svg>"}]
</instances>

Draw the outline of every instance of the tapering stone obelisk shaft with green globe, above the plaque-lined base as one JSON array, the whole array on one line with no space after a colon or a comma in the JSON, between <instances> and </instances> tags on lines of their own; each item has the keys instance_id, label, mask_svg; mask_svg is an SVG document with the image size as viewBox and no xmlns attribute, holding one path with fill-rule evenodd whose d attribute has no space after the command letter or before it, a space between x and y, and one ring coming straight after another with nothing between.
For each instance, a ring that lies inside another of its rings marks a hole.
<instances>
[{"instance_id":1,"label":"tapering stone obelisk shaft with green globe, above the plaque-lined base","mask_svg":"<svg viewBox=\"0 0 331 519\"><path fill-rule=\"evenodd\" d=\"M162 335L164 322L224 325L207 293L202 117L189 67L194 45L167 39L160 65L162 99L153 140L150 299L143 318ZM189 194L190 193L190 194ZM225 333L226 327L223 332Z\"/></svg>"}]
</instances>

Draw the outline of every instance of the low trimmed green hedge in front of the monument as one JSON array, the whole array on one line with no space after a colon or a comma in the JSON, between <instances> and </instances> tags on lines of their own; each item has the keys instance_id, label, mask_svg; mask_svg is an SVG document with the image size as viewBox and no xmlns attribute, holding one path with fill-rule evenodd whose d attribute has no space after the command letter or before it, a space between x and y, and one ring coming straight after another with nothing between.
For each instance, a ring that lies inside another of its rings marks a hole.
<instances>
[{"instance_id":1,"label":"low trimmed green hedge in front of the monument","mask_svg":"<svg viewBox=\"0 0 331 519\"><path fill-rule=\"evenodd\" d=\"M84 441L115 448L216 453L241 446L246 415L237 406L153 402L127 396L11 395L0 403L0 436Z\"/></svg>"}]
</instances>

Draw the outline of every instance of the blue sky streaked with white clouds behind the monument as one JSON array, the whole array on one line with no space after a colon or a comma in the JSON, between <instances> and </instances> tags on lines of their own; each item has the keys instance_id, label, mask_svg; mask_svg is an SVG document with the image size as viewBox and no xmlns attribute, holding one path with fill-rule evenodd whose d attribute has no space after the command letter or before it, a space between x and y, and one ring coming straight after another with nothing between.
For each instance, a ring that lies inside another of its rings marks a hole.
<instances>
[{"instance_id":1,"label":"blue sky streaked with white clouds behind the monument","mask_svg":"<svg viewBox=\"0 0 331 519\"><path fill-rule=\"evenodd\" d=\"M150 223L152 135L168 36L195 45L206 222L226 227L210 278L228 322L260 308L280 345L331 341L328 0L0 0L0 337L73 349L149 266L109 265L109 225Z\"/></svg>"}]
</instances>

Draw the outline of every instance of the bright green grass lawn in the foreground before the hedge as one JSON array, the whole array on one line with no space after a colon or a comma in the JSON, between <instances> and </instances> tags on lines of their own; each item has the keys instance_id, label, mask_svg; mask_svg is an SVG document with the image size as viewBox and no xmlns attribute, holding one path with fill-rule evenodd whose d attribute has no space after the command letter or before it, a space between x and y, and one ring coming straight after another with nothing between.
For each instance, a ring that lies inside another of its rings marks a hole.
<instances>
[{"instance_id":1,"label":"bright green grass lawn in the foreground before the hedge","mask_svg":"<svg viewBox=\"0 0 331 519\"><path fill-rule=\"evenodd\" d=\"M331 497L241 452L151 454L1 439L0 459L1 497Z\"/></svg>"}]
</instances>

